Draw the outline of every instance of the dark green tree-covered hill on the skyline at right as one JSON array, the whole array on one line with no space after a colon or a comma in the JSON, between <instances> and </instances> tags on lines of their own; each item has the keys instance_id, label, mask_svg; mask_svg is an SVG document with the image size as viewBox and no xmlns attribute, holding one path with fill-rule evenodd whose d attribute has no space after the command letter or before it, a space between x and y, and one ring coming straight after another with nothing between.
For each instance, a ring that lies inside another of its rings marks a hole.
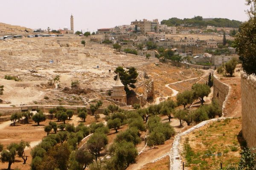
<instances>
[{"instance_id":1,"label":"dark green tree-covered hill on the skyline at right","mask_svg":"<svg viewBox=\"0 0 256 170\"><path fill-rule=\"evenodd\" d=\"M204 20L203 17L197 16L194 18L170 18L169 20L161 21L161 24L166 24L167 26L180 26L183 24L184 27L229 27L229 28L239 28L241 24L237 20L229 20L227 18L211 18L209 20Z\"/></svg>"}]
</instances>

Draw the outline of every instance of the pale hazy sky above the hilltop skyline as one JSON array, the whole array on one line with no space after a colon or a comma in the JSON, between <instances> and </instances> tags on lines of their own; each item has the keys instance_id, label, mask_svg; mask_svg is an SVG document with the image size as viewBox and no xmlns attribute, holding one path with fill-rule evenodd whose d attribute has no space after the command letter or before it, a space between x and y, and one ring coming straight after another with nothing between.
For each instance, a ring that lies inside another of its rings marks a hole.
<instances>
[{"instance_id":1,"label":"pale hazy sky above the hilltop skyline","mask_svg":"<svg viewBox=\"0 0 256 170\"><path fill-rule=\"evenodd\" d=\"M245 21L245 0L0 0L0 22L27 28L97 31L131 21L194 16Z\"/></svg>"}]
</instances>

